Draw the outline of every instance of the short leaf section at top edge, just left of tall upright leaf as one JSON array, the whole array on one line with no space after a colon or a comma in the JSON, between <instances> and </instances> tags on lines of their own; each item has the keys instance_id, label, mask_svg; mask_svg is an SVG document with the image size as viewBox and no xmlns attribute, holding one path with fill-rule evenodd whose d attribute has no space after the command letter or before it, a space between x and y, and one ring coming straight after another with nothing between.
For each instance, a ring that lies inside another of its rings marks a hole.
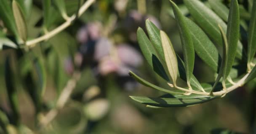
<instances>
[{"instance_id":1,"label":"short leaf section at top edge, just left of tall upright leaf","mask_svg":"<svg viewBox=\"0 0 256 134\"><path fill-rule=\"evenodd\" d=\"M228 16L229 16L229 9L221 3L221 1L218 0L208 0L209 4L211 5L211 8L213 11L219 15L220 18L222 18L225 22L227 22Z\"/></svg>"}]
</instances>

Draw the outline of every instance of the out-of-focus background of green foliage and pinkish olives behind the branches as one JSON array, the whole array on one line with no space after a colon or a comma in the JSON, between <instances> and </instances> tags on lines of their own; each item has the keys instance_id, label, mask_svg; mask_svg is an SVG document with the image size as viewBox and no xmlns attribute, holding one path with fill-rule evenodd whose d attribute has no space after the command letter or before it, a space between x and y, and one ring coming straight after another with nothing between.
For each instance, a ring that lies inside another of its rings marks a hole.
<instances>
[{"instance_id":1,"label":"out-of-focus background of green foliage and pinkish olives behind the branches","mask_svg":"<svg viewBox=\"0 0 256 134\"><path fill-rule=\"evenodd\" d=\"M255 124L255 81L224 98L184 108L152 109L129 98L129 95L163 95L133 80L128 75L129 70L168 88L149 68L137 43L136 30L138 27L145 29L147 19L168 33L174 49L182 57L179 31L170 15L170 2L145 1L146 6L143 0L96 0L72 26L31 50L41 57L46 70L42 114L54 108L73 74L80 75L69 101L40 133L210 134L216 128L250 133ZM174 2L182 4L182 0ZM66 0L66 8L69 15L75 13L77 0ZM42 10L41 1L33 0L28 18L30 39L42 32ZM57 11L53 11L51 17L52 29L64 22ZM4 30L1 25L0 21L0 30ZM11 58L13 79L18 90L21 122L31 130L38 130L33 99L26 86L32 85L27 77L29 54L13 49L0 52L0 109L11 113L4 77L7 54L14 55ZM213 71L197 56L194 75L200 82L214 80Z\"/></svg>"}]
</instances>

